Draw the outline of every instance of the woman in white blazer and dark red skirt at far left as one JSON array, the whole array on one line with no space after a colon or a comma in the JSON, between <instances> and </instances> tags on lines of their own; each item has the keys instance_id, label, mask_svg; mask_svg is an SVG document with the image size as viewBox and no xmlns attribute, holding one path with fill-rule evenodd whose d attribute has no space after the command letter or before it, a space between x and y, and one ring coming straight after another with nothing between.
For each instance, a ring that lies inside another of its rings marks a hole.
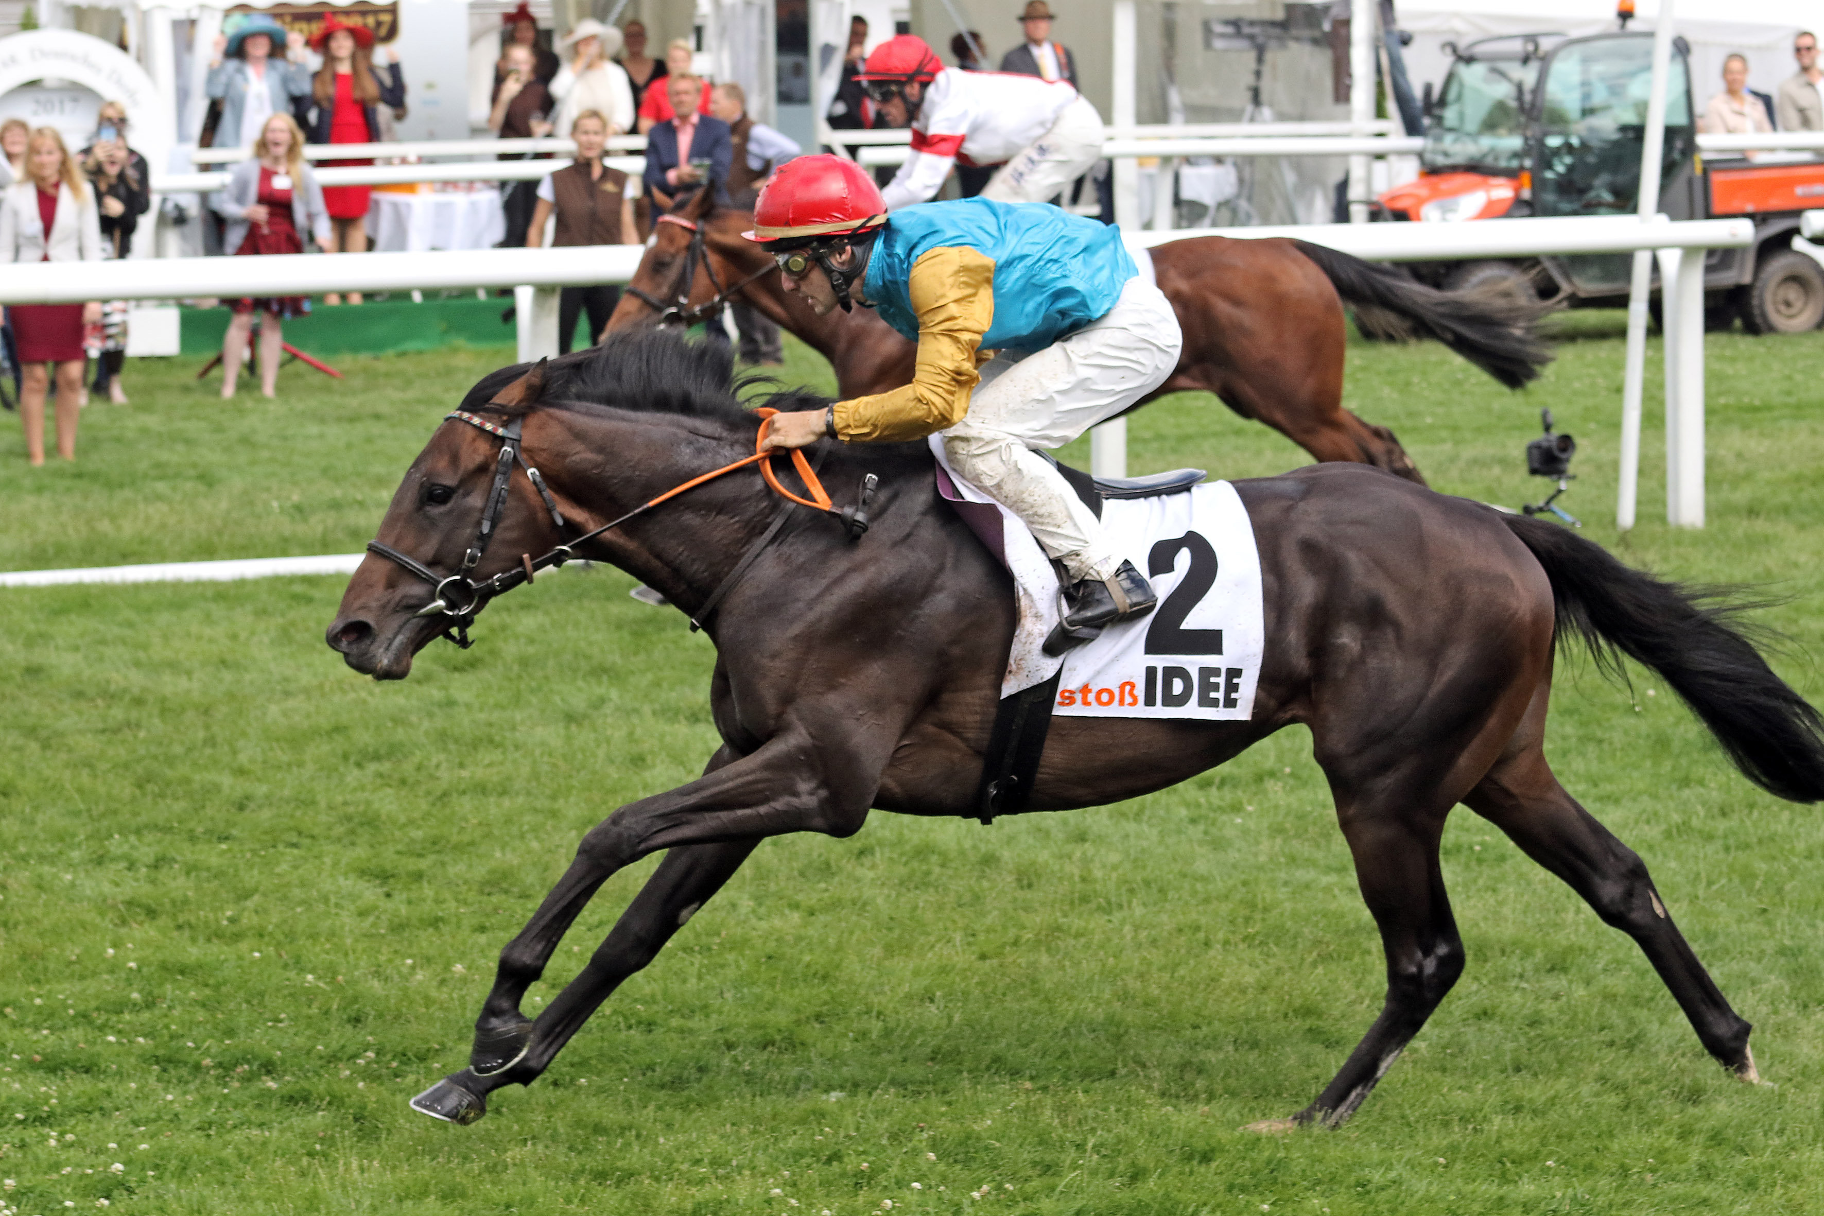
<instances>
[{"instance_id":1,"label":"woman in white blazer and dark red skirt at far left","mask_svg":"<svg viewBox=\"0 0 1824 1216\"><path fill-rule=\"evenodd\" d=\"M26 177L13 182L0 206L0 263L98 263L102 221L95 191L57 128L42 126L26 146ZM13 339L24 383L18 414L26 423L26 452L44 463L44 397L57 365L57 454L77 458L77 417L82 410L82 325L102 319L100 304L15 304Z\"/></svg>"}]
</instances>

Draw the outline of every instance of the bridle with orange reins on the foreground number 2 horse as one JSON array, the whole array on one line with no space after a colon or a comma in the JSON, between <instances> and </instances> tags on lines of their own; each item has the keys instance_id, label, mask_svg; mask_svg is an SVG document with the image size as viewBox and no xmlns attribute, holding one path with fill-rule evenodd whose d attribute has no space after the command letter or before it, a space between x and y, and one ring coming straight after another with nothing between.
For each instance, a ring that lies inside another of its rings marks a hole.
<instances>
[{"instance_id":1,"label":"bridle with orange reins on the foreground number 2 horse","mask_svg":"<svg viewBox=\"0 0 1824 1216\"><path fill-rule=\"evenodd\" d=\"M531 376L538 383L544 381L544 361L540 361L538 368L534 368ZM511 407L513 403L491 401L483 408L503 410ZM533 483L533 489L538 490L538 496L545 503L545 510L551 512L551 521L558 529L558 536L564 536L564 529L569 527L569 523L564 520L564 512L558 510L558 503L551 496L549 487L545 487L545 479L540 476L538 469L534 469L525 459L520 441L523 414L514 414L505 425L498 425L476 414L469 414L467 410L452 410L443 416L443 421L454 419L460 423L469 423L478 430L485 430L491 436L498 436L502 441L500 456L494 459L494 483L487 492L487 505L482 509L482 523L476 529L476 538L463 551L461 569L449 576L438 574L423 562L418 562L410 554L399 552L392 545L383 545L378 540L367 541L367 551L379 554L381 558L387 558L389 562L403 567L405 571L430 583L432 587L430 603L421 607L412 616L443 618L447 623L438 636L447 638L449 642L454 642L456 645L467 651L472 645L469 638L469 627L474 623L474 618L482 613L483 607L487 607L487 603L494 596L502 596L518 587L520 583L531 583L533 578L538 574L538 571L564 565L565 562L576 556L578 545L595 540L602 532L620 527L622 523L633 520L635 516L646 514L658 503L669 498L677 498L684 490L695 489L706 481L713 481L722 474L757 463L761 467L761 478L766 481L766 485L775 494L779 494L788 501L781 503L781 512L773 520L773 525L759 538L759 541L755 541L748 549L746 554L742 554L741 562L733 567L733 571L730 571L730 574L722 580L722 583L710 594L704 607L697 611L697 616L691 618L691 627L697 629L702 625L704 620L708 620L710 613L715 609L717 603L720 603L722 596L726 596L728 591L735 585L735 580L739 580L748 571L753 560L761 554L761 549L764 549L779 534L781 527L784 525L784 512L792 509L792 503L812 507L814 510L835 516L837 520L843 521L843 527L848 529L850 540L859 540L861 534L868 531L868 503L872 501L874 490L879 485L879 479L872 472L861 478L861 494L855 505L837 509L830 501L830 494L823 489L823 481L817 479L817 470L812 467L808 459L804 459L804 452L801 448L792 448L792 465L797 469L797 474L803 479L810 498L801 498L779 483L779 478L773 474L773 465L770 458L781 456L781 452L762 450L761 447L766 443L766 430L772 425L773 414L777 412L779 410L766 407L755 410L755 414L761 416L761 430L753 439L753 448L755 448L753 456L737 459L731 465L722 465L720 469L691 478L682 485L675 485L658 498L651 498L635 507L633 510L626 512L624 516L609 520L602 527L591 532L584 532L576 540L560 543L554 549L536 558L527 552L522 552L520 565L509 567L500 574L494 574L492 578L476 582L474 578L469 576L469 571L472 571L482 562L482 554L487 552L489 541L492 541L494 534L500 531L500 520L507 510L507 489L513 481L514 465L520 465L525 470L525 478ZM819 463L821 463L821 454L819 454Z\"/></svg>"}]
</instances>

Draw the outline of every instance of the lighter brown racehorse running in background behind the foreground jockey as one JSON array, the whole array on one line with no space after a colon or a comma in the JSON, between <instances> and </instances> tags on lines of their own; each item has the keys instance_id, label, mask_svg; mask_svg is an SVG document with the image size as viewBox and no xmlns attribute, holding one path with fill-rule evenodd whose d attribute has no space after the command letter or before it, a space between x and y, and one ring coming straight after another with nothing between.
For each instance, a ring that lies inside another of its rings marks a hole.
<instances>
[{"instance_id":1,"label":"lighter brown racehorse running in background behind the foreground jockey","mask_svg":"<svg viewBox=\"0 0 1824 1216\"><path fill-rule=\"evenodd\" d=\"M671 222L655 226L607 332L651 325L666 310L695 321L720 299L742 299L826 357L843 397L912 383L912 343L866 308L815 315L781 290L772 255L742 239L748 228L751 211L711 210L708 191L679 202ZM1421 485L1392 430L1342 408L1344 303L1377 332L1446 343L1508 388L1536 379L1552 357L1534 334L1547 312L1536 301L1439 292L1321 244L1195 237L1155 248L1153 266L1184 328L1184 354L1142 405L1167 392L1213 392L1313 459L1375 465Z\"/></svg>"}]
</instances>

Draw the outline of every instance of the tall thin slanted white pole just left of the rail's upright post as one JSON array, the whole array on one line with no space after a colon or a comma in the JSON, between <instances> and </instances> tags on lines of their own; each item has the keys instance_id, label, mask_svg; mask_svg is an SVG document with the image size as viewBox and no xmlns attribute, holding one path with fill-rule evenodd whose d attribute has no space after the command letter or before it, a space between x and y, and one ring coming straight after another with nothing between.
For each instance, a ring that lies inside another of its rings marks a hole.
<instances>
[{"instance_id":1,"label":"tall thin slanted white pole just left of the rail's upright post","mask_svg":"<svg viewBox=\"0 0 1824 1216\"><path fill-rule=\"evenodd\" d=\"M1660 0L1660 24L1653 29L1653 78L1647 93L1647 129L1640 146L1640 201L1636 213L1642 221L1651 221L1660 211L1660 168L1665 162L1665 88L1671 77L1673 57L1673 0ZM1663 253L1662 253L1663 257ZM1698 259L1702 263L1702 257ZM1671 279L1660 273L1660 306L1665 314L1665 405L1671 408L1673 394L1673 346L1678 337L1673 332L1673 292ZM1640 401L1647 381L1647 295L1653 290L1653 255L1647 250L1634 253L1634 275L1627 292L1627 363L1622 376L1622 476L1616 479L1614 525L1623 532L1634 527L1634 514L1640 500ZM1702 306L1698 308L1702 314ZM1698 359L1704 357L1704 326L1698 325ZM1704 392L1702 366L1698 368L1698 392ZM1698 401L1702 412L1704 403ZM1673 470L1665 470L1667 487Z\"/></svg>"}]
</instances>

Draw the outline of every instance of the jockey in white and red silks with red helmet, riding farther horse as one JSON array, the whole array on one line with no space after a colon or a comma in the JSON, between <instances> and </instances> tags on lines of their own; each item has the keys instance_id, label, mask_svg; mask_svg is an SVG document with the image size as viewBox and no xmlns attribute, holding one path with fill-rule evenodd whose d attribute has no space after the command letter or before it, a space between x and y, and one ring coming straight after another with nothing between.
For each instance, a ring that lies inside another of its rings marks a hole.
<instances>
[{"instance_id":1,"label":"jockey in white and red silks with red helmet, riding farther horse","mask_svg":"<svg viewBox=\"0 0 1824 1216\"><path fill-rule=\"evenodd\" d=\"M890 211L936 199L956 160L1005 160L983 199L1045 202L1102 159L1102 115L1069 80L945 67L914 35L874 47L855 78L886 126L912 128L912 155L883 191Z\"/></svg>"}]
</instances>

